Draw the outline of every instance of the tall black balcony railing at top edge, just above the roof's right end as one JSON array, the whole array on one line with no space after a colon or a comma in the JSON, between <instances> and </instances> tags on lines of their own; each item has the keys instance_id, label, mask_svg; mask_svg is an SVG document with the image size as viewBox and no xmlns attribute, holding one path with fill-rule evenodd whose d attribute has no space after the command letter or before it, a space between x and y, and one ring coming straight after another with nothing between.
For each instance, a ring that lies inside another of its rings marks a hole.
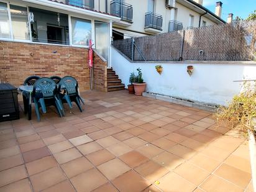
<instances>
[{"instance_id":1,"label":"tall black balcony railing at top edge, just above the roof's right end","mask_svg":"<svg viewBox=\"0 0 256 192\"><path fill-rule=\"evenodd\" d=\"M111 14L120 17L122 21L132 22L133 7L118 0L111 1Z\"/></svg>"}]
</instances>

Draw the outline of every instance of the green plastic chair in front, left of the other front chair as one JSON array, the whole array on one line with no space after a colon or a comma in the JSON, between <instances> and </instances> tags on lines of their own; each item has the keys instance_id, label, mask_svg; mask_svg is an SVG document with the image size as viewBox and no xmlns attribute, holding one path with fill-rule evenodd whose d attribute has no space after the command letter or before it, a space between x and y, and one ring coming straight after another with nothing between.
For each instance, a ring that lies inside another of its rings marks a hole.
<instances>
[{"instance_id":1,"label":"green plastic chair in front, left of the other front chair","mask_svg":"<svg viewBox=\"0 0 256 192\"><path fill-rule=\"evenodd\" d=\"M63 116L62 104L56 96L57 84L54 80L43 77L35 81L33 88L33 99L35 103L35 113L37 114L37 120L40 121L39 108L42 108L42 112L46 113L46 106L55 106L60 117Z\"/></svg>"}]
</instances>

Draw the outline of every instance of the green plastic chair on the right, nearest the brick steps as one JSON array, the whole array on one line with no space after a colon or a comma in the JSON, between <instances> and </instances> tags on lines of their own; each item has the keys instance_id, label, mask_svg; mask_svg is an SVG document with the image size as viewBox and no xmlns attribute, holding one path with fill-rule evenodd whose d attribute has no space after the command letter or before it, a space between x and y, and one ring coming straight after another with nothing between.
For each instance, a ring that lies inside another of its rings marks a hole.
<instances>
[{"instance_id":1,"label":"green plastic chair on the right, nearest the brick steps","mask_svg":"<svg viewBox=\"0 0 256 192\"><path fill-rule=\"evenodd\" d=\"M64 90L64 93L62 93L62 90ZM83 98L81 98L79 94L78 81L76 81L73 76L64 76L62 80L60 80L60 82L58 83L58 93L62 108L63 103L67 103L71 109L73 107L72 102L75 102L79 110L83 112L81 103L85 105L85 101L83 100Z\"/></svg>"}]
</instances>

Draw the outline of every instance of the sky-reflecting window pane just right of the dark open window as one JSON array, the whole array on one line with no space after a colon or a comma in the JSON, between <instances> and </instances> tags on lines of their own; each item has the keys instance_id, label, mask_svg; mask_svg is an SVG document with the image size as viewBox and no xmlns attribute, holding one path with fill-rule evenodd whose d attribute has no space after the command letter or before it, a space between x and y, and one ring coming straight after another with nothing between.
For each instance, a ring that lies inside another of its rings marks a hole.
<instances>
[{"instance_id":1,"label":"sky-reflecting window pane just right of the dark open window","mask_svg":"<svg viewBox=\"0 0 256 192\"><path fill-rule=\"evenodd\" d=\"M91 39L91 21L71 17L72 26L72 44L89 45Z\"/></svg>"}]
</instances>

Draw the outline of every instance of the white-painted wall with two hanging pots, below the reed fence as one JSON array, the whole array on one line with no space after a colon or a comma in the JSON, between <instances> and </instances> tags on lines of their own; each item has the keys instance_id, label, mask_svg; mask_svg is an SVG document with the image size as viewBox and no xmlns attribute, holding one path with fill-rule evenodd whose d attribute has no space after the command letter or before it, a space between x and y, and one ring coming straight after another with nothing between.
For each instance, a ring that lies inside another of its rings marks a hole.
<instances>
[{"instance_id":1,"label":"white-painted wall with two hanging pots, below the reed fence","mask_svg":"<svg viewBox=\"0 0 256 192\"><path fill-rule=\"evenodd\" d=\"M226 63L129 62L112 47L112 68L126 86L130 73L137 74L136 69L141 68L146 91L206 104L225 105L240 92L242 83L235 83L235 80L256 79L256 63ZM163 66L162 75L157 73L155 65ZM192 76L186 72L188 65L194 66Z\"/></svg>"}]
</instances>

